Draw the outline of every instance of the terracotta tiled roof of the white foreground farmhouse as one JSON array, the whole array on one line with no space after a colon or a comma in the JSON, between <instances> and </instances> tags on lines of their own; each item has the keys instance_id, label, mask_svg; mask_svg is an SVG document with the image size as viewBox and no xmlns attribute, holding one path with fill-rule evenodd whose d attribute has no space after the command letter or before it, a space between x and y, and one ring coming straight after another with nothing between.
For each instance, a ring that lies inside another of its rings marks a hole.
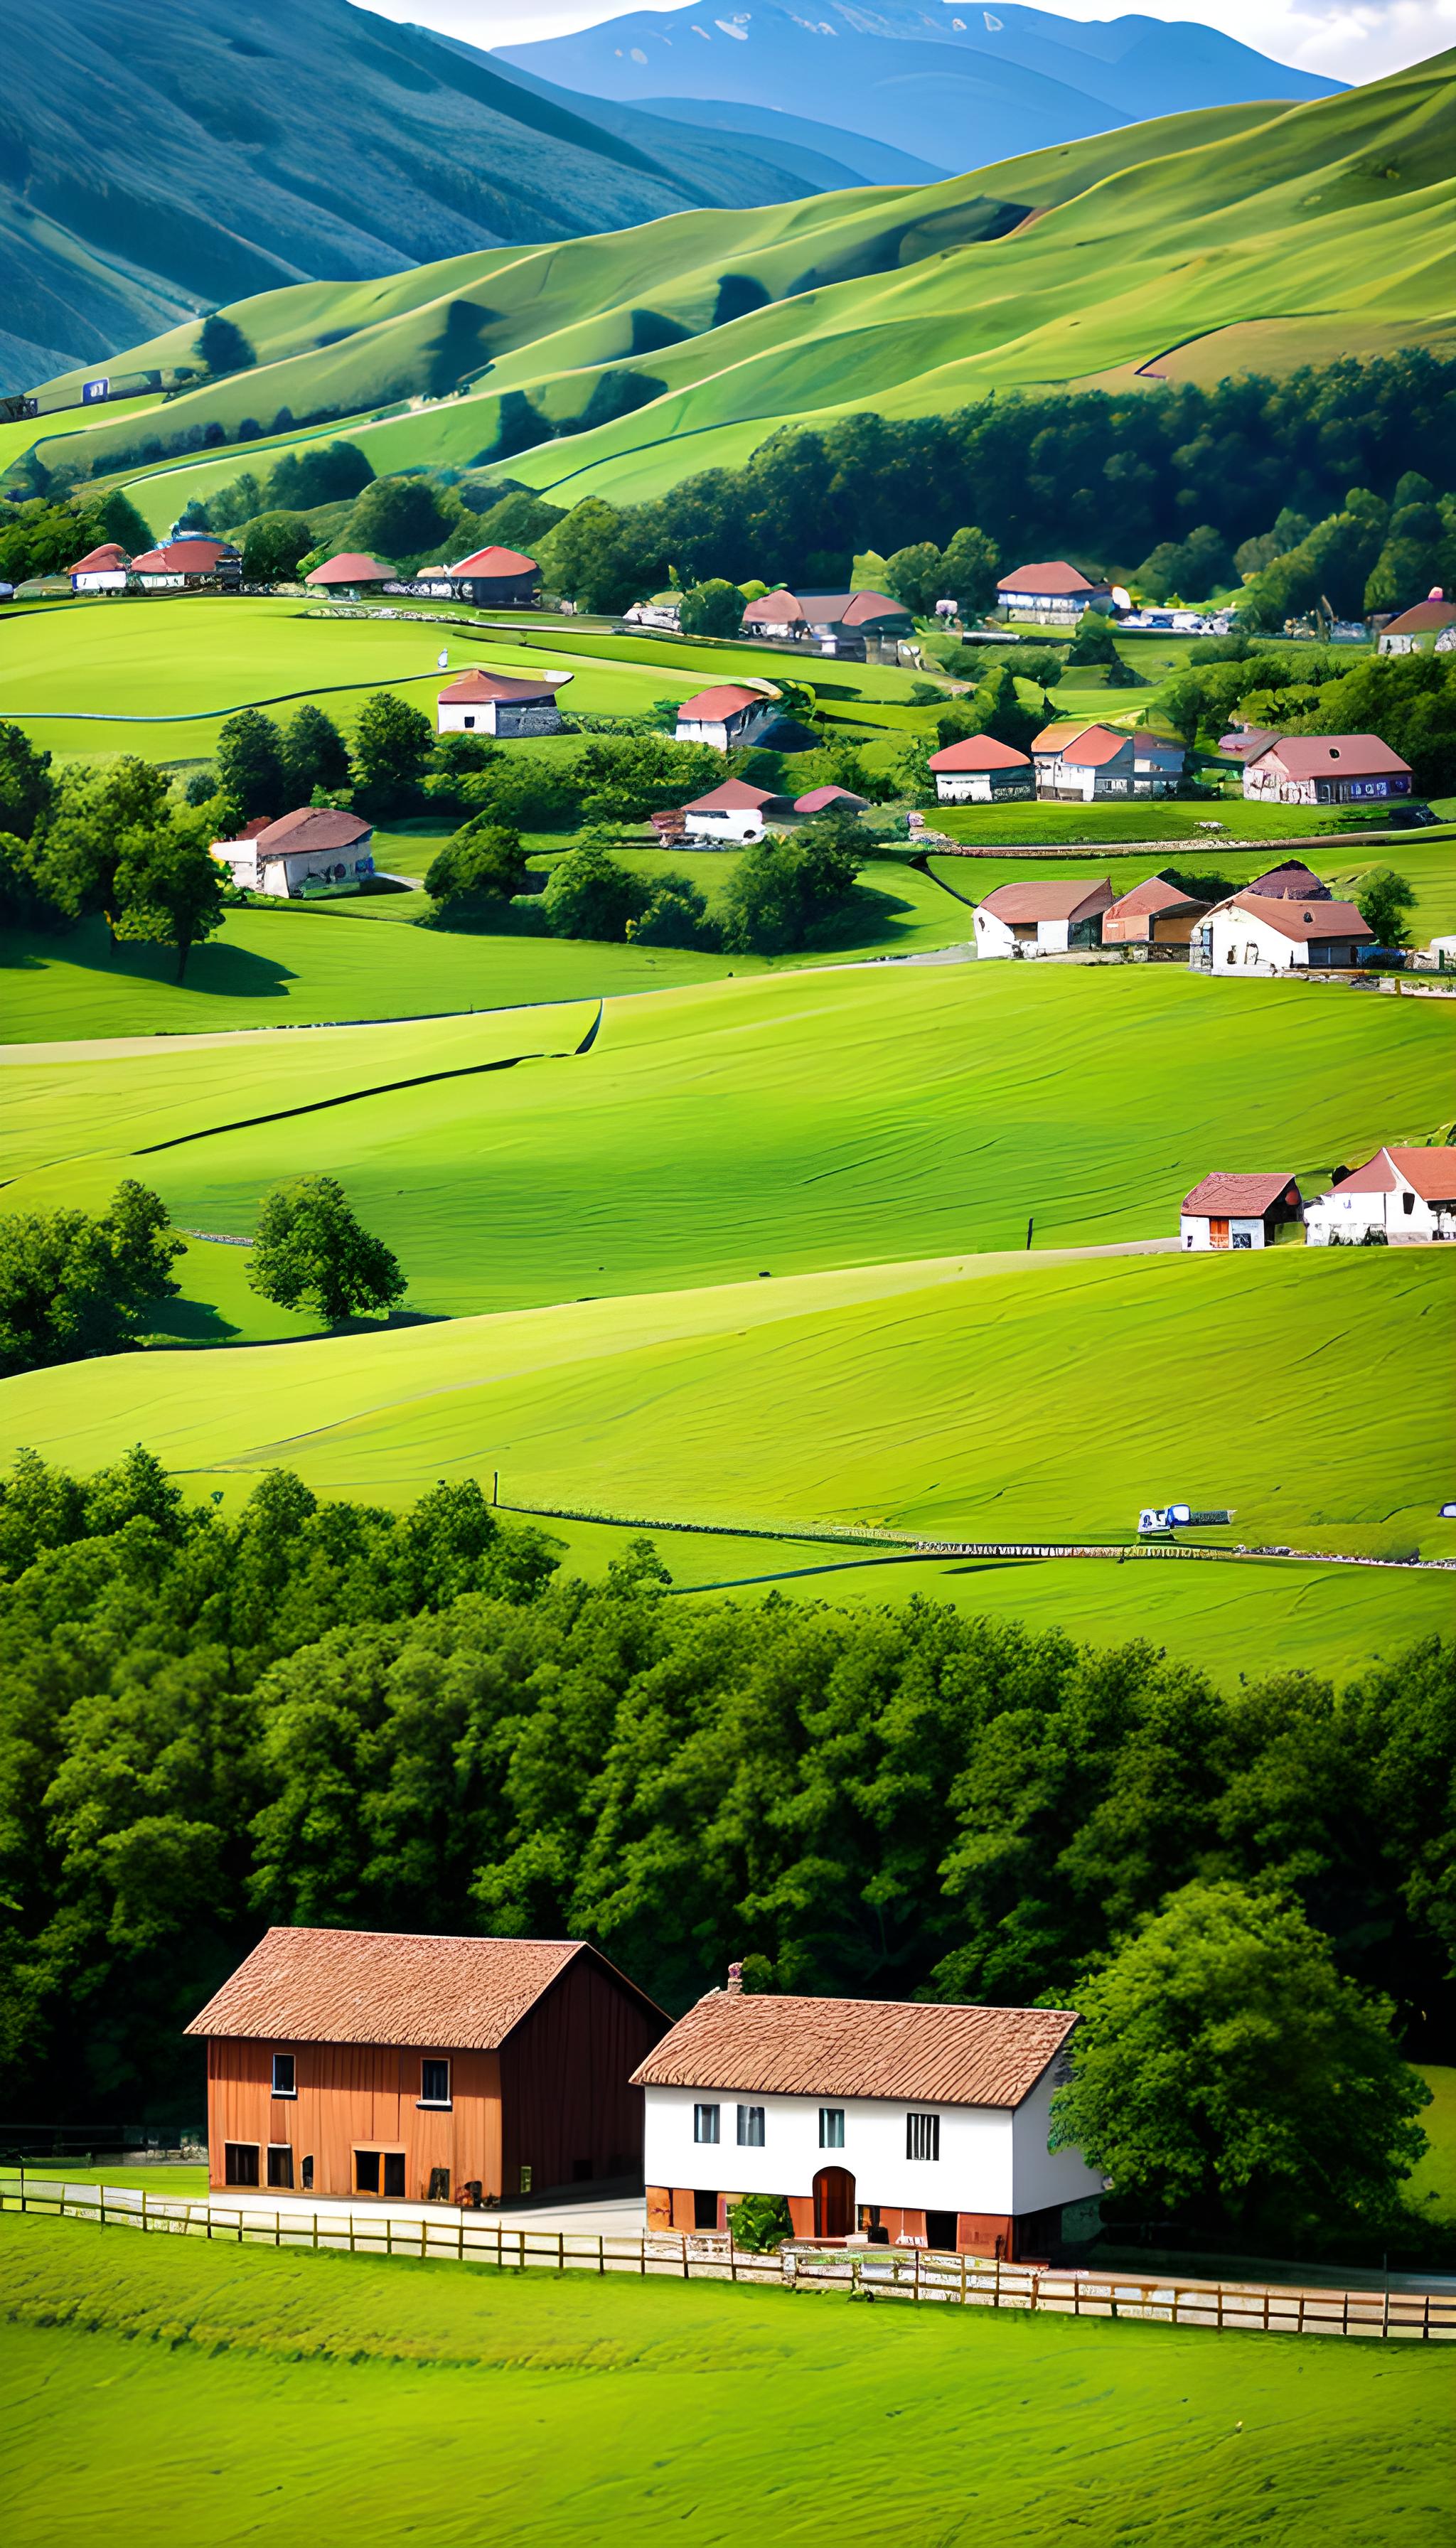
<instances>
[{"instance_id":1,"label":"terracotta tiled roof of the white foreground farmhouse","mask_svg":"<svg viewBox=\"0 0 1456 2548\"><path fill-rule=\"evenodd\" d=\"M632 2087L1015 2107L1074 2026L1068 2008L714 1990L632 2072Z\"/></svg>"}]
</instances>

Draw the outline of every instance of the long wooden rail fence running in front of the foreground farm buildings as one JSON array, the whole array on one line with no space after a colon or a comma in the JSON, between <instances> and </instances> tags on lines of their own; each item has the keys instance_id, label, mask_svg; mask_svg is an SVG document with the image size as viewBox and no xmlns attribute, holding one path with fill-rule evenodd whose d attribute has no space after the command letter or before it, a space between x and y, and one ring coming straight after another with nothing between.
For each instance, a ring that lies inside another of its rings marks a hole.
<instances>
[{"instance_id":1,"label":"long wooden rail fence running in front of the foreground farm buildings","mask_svg":"<svg viewBox=\"0 0 1456 2548\"><path fill-rule=\"evenodd\" d=\"M1137 2275L1061 2265L1007 2265L1000 2258L933 2247L819 2247L790 2240L752 2255L717 2230L609 2237L492 2222L472 2212L354 2212L342 2204L275 2209L189 2201L130 2186L64 2186L0 2176L0 2212L145 2230L166 2237L229 2240L240 2247L347 2250L413 2260L495 2265L505 2273L630 2273L671 2280L760 2283L780 2291L836 2291L857 2301L933 2301L961 2308L1025 2308L1066 2319L1145 2319L1242 2334L1380 2337L1456 2342L1456 2293L1341 2291L1331 2286L1206 2283L1193 2275Z\"/></svg>"}]
</instances>

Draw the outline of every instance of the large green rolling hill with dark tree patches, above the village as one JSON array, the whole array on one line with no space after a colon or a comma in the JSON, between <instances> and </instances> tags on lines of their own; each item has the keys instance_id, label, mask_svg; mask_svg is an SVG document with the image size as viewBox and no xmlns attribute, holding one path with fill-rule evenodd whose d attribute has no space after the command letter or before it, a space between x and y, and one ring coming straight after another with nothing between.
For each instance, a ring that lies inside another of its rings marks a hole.
<instances>
[{"instance_id":1,"label":"large green rolling hill with dark tree patches, above the village","mask_svg":"<svg viewBox=\"0 0 1456 2548\"><path fill-rule=\"evenodd\" d=\"M232 308L255 369L145 418L166 423L145 469L186 469L194 494L237 456L199 464L189 436L222 426L232 443L250 418L268 443L278 420L291 438L296 418L349 415L377 471L507 464L569 499L637 497L806 415L1446 352L1453 199L1443 54L1341 97L1163 117L941 186L293 285ZM181 359L184 334L117 369ZM421 395L441 403L411 408ZM145 474L135 423L87 451L97 474Z\"/></svg>"}]
</instances>

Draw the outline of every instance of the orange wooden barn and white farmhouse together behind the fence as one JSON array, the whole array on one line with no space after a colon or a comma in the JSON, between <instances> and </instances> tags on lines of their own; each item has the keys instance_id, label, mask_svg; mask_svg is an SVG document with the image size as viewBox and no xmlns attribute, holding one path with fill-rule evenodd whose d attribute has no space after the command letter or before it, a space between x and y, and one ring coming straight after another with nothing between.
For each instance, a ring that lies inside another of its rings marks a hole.
<instances>
[{"instance_id":1,"label":"orange wooden barn and white farmhouse together behind the fence","mask_svg":"<svg viewBox=\"0 0 1456 2548\"><path fill-rule=\"evenodd\" d=\"M648 2230L1045 2258L1104 2191L1051 2151L1066 2008L778 1998L676 2026L571 1939L270 1929L186 2028L217 2191L500 2204L645 2184Z\"/></svg>"}]
</instances>

